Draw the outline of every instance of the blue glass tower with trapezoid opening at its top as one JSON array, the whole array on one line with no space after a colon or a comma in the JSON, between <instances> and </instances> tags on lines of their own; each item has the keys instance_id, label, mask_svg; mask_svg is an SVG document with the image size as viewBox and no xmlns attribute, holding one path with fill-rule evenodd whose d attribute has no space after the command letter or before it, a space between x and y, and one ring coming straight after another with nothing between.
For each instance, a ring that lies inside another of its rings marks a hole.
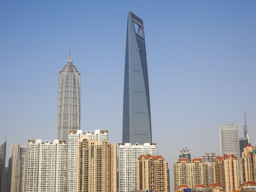
<instances>
[{"instance_id":1,"label":"blue glass tower with trapezoid opening at its top","mask_svg":"<svg viewBox=\"0 0 256 192\"><path fill-rule=\"evenodd\" d=\"M128 11L124 69L123 143L152 143L144 26Z\"/></svg>"}]
</instances>

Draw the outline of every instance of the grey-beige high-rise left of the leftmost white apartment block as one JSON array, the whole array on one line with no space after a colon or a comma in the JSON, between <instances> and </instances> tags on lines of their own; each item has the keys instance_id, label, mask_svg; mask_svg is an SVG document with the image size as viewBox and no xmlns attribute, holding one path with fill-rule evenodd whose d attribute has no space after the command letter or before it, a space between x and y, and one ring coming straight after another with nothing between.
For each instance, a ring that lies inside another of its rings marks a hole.
<instances>
[{"instance_id":1,"label":"grey-beige high-rise left of the leftmost white apartment block","mask_svg":"<svg viewBox=\"0 0 256 192\"><path fill-rule=\"evenodd\" d=\"M27 148L26 145L11 145L8 163L8 192L26 191Z\"/></svg>"}]
</instances>

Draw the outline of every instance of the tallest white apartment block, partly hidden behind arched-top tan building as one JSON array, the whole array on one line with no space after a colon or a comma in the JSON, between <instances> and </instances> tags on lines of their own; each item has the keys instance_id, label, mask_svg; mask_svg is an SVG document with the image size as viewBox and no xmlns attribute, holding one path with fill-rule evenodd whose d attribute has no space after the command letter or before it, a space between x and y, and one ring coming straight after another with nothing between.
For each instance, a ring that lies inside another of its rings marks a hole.
<instances>
[{"instance_id":1,"label":"tallest white apartment block, partly hidden behind arched-top tan building","mask_svg":"<svg viewBox=\"0 0 256 192\"><path fill-rule=\"evenodd\" d=\"M78 140L81 136L90 136L91 140L98 140L103 142L108 140L108 131L101 131L99 129L93 132L87 131L83 133L82 130L70 131L68 135L68 158L67 158L67 191L77 192L77 146Z\"/></svg>"}]
</instances>

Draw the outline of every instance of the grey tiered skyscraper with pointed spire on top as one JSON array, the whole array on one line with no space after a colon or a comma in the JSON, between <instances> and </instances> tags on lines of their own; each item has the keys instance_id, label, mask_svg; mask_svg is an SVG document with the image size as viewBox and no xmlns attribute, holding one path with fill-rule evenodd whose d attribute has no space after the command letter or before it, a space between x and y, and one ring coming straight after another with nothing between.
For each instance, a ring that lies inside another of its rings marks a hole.
<instances>
[{"instance_id":1,"label":"grey tiered skyscraper with pointed spire on top","mask_svg":"<svg viewBox=\"0 0 256 192\"><path fill-rule=\"evenodd\" d=\"M58 90L58 140L68 141L70 131L80 129L81 74L72 63L59 72Z\"/></svg>"}]
</instances>

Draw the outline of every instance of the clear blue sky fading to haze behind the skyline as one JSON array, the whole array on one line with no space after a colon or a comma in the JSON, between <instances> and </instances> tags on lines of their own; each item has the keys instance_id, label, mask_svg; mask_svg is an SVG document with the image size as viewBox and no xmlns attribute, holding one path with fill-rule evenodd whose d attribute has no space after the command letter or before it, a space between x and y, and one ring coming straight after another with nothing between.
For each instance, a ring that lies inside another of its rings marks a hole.
<instances>
[{"instance_id":1,"label":"clear blue sky fading to haze behind the skyline","mask_svg":"<svg viewBox=\"0 0 256 192\"><path fill-rule=\"evenodd\" d=\"M173 163L220 154L219 125L244 110L256 137L256 0L2 1L0 143L57 137L58 72L81 73L81 129L122 142L127 10L144 22L152 139Z\"/></svg>"}]
</instances>

